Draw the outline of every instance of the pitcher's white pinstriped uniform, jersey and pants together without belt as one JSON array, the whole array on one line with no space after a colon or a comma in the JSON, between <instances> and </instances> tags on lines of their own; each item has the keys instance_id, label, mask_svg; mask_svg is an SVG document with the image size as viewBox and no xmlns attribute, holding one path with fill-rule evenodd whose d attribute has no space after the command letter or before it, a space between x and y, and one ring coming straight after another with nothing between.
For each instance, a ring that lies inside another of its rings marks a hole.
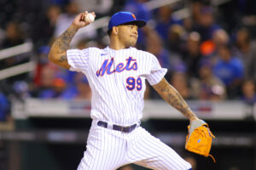
<instances>
[{"instance_id":1,"label":"pitcher's white pinstriped uniform, jersey and pants together without belt","mask_svg":"<svg viewBox=\"0 0 256 170\"><path fill-rule=\"evenodd\" d=\"M84 73L92 91L93 122L79 170L113 170L131 162L161 170L191 167L143 127L122 133L96 125L98 121L119 126L140 122L145 79L154 85L167 71L153 54L137 48L70 49L67 60L71 71Z\"/></svg>"}]
</instances>

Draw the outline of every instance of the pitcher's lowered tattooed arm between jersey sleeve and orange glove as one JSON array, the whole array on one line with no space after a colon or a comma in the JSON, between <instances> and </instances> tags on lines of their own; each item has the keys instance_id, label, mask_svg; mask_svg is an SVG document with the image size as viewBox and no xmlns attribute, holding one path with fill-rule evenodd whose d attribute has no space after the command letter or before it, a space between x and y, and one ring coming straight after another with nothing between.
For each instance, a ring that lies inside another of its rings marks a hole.
<instances>
[{"instance_id":1,"label":"pitcher's lowered tattooed arm between jersey sleeve and orange glove","mask_svg":"<svg viewBox=\"0 0 256 170\"><path fill-rule=\"evenodd\" d=\"M153 88L157 91L160 96L166 100L167 103L172 105L177 111L183 113L184 116L189 118L190 122L198 120L197 116L190 110L189 105L185 102L183 97L177 92L171 84L166 82L163 78L159 83L153 85Z\"/></svg>"}]
</instances>

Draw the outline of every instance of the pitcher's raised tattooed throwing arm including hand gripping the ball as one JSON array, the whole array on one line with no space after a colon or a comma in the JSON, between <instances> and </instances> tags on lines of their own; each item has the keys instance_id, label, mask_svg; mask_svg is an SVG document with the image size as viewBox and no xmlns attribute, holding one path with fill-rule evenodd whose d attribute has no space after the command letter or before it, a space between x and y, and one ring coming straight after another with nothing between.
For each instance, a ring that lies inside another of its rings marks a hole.
<instances>
[{"instance_id":1,"label":"pitcher's raised tattooed throwing arm including hand gripping the ball","mask_svg":"<svg viewBox=\"0 0 256 170\"><path fill-rule=\"evenodd\" d=\"M67 49L69 48L69 44L79 28L88 26L90 24L90 22L84 21L87 14L87 11L78 14L73 20L72 25L69 26L67 30L64 31L52 44L48 58L51 62L55 63L55 65L60 65L66 69L70 68L70 65L67 63ZM94 12L92 14L95 15Z\"/></svg>"}]
</instances>

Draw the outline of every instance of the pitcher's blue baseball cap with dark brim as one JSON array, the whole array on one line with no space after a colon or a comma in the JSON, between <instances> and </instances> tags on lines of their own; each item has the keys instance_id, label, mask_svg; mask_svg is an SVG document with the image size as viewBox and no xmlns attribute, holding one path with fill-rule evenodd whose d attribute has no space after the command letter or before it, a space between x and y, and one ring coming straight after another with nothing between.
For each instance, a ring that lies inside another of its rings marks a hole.
<instances>
[{"instance_id":1,"label":"pitcher's blue baseball cap with dark brim","mask_svg":"<svg viewBox=\"0 0 256 170\"><path fill-rule=\"evenodd\" d=\"M138 28L146 26L145 20L137 20L136 16L130 12L119 12L113 14L111 19L108 22L108 31L112 30L113 26L119 26L123 24L131 23L132 25L137 25Z\"/></svg>"}]
</instances>

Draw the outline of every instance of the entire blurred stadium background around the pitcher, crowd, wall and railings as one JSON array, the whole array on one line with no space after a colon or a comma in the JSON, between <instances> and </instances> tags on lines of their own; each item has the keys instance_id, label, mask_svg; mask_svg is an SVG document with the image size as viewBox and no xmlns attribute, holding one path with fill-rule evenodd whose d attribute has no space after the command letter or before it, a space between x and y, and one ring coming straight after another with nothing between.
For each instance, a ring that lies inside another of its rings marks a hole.
<instances>
[{"instance_id":1,"label":"entire blurred stadium background around the pitcher, crowd, wall and railings","mask_svg":"<svg viewBox=\"0 0 256 170\"><path fill-rule=\"evenodd\" d=\"M148 84L143 127L194 170L256 169L255 0L0 0L0 170L79 165L91 122L90 87L47 55L84 10L95 11L96 20L79 30L71 48L105 48L108 20L120 10L148 21L137 48L159 59L166 80L209 123L217 162L184 150L189 121Z\"/></svg>"}]
</instances>

